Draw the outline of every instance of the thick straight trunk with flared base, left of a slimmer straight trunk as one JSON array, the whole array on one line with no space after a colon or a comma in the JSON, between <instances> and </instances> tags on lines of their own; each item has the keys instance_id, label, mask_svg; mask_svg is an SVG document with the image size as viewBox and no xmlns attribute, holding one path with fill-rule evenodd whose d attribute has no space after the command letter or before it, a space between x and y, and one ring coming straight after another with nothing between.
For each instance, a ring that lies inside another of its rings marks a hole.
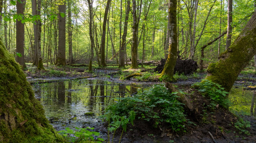
<instances>
[{"instance_id":1,"label":"thick straight trunk with flared base, left of a slimmer straight trunk","mask_svg":"<svg viewBox=\"0 0 256 143\"><path fill-rule=\"evenodd\" d=\"M56 58L56 66L66 65L66 1L60 1L59 5L59 45Z\"/></svg>"}]
</instances>

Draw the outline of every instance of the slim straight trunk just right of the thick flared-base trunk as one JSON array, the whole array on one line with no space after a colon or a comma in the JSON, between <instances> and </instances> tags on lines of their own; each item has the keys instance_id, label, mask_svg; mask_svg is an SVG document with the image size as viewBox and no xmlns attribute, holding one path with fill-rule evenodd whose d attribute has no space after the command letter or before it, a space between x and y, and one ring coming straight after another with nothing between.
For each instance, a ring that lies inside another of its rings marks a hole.
<instances>
[{"instance_id":1,"label":"slim straight trunk just right of the thick flared-base trunk","mask_svg":"<svg viewBox=\"0 0 256 143\"><path fill-rule=\"evenodd\" d=\"M72 21L71 21L71 8L70 8L71 1L68 0L68 60L69 65L74 63L74 57L72 52Z\"/></svg>"}]
</instances>

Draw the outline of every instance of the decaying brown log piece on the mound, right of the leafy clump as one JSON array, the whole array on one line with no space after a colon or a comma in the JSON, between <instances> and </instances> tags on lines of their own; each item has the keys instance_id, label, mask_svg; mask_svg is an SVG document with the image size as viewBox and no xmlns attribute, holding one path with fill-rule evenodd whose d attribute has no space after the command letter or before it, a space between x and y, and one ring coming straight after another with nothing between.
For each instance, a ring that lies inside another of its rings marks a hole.
<instances>
[{"instance_id":1,"label":"decaying brown log piece on the mound, right of the leafy clump","mask_svg":"<svg viewBox=\"0 0 256 143\"><path fill-rule=\"evenodd\" d=\"M187 98L186 95L179 93L178 89L176 89L176 88L175 88L171 83L169 83L169 82L166 82L166 85L165 85L165 86L166 86L166 88L167 88L168 90L170 90L171 92L178 92L179 98L176 98L176 99L177 99L179 102L185 104L185 105L184 105L185 108L188 108L188 109L190 109L190 111L192 111L193 106L192 106L190 100L188 100L188 98Z\"/></svg>"}]
</instances>

